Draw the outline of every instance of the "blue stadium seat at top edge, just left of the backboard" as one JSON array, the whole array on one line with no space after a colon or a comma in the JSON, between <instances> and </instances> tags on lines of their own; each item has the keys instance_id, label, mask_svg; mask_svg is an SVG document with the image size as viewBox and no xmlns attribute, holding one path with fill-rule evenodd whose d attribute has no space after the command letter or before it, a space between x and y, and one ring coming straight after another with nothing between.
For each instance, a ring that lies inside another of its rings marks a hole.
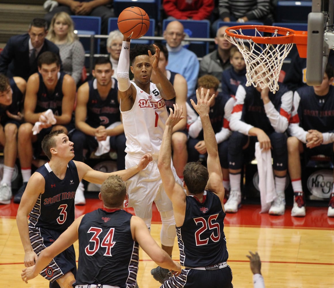
<instances>
[{"instance_id":1,"label":"blue stadium seat at top edge, just left of the backboard","mask_svg":"<svg viewBox=\"0 0 334 288\"><path fill-rule=\"evenodd\" d=\"M307 23L312 1L278 1L276 22Z\"/></svg>"}]
</instances>

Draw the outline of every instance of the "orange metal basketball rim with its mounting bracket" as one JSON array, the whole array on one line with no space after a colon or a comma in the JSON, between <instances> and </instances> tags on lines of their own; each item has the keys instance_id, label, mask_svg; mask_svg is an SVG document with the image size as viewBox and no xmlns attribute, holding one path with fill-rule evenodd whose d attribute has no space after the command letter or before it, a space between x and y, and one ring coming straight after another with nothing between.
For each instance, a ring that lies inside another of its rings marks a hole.
<instances>
[{"instance_id":1,"label":"orange metal basketball rim with its mounting bracket","mask_svg":"<svg viewBox=\"0 0 334 288\"><path fill-rule=\"evenodd\" d=\"M265 33L275 33L281 36L267 37L267 36L248 36L243 34L237 34L236 31L243 30L255 30ZM287 32L289 34L287 35ZM295 43L297 45L298 53L301 58L306 58L307 51L307 31L296 31L290 28L267 26L267 25L240 25L228 27L225 33L234 38L252 40L259 44L289 44Z\"/></svg>"}]
</instances>

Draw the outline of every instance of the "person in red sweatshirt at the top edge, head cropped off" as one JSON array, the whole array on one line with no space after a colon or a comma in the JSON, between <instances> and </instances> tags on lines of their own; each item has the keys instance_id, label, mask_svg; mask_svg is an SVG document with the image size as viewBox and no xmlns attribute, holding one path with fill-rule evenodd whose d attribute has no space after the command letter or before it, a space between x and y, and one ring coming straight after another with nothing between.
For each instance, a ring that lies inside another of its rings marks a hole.
<instances>
[{"instance_id":1,"label":"person in red sweatshirt at the top edge, head cropped off","mask_svg":"<svg viewBox=\"0 0 334 288\"><path fill-rule=\"evenodd\" d=\"M214 8L214 0L163 0L162 7L168 19L209 19Z\"/></svg>"}]
</instances>

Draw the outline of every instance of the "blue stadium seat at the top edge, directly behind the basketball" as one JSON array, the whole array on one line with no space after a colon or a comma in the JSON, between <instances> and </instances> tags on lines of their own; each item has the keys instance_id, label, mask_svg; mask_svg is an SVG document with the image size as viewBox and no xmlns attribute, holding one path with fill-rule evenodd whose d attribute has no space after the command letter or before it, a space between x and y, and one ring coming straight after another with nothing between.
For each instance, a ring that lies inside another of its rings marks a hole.
<instances>
[{"instance_id":1,"label":"blue stadium seat at the top edge, directly behind the basketball","mask_svg":"<svg viewBox=\"0 0 334 288\"><path fill-rule=\"evenodd\" d=\"M137 6L144 9L150 19L160 22L161 2L162 0L114 0L114 11L118 17L125 8Z\"/></svg>"}]
</instances>

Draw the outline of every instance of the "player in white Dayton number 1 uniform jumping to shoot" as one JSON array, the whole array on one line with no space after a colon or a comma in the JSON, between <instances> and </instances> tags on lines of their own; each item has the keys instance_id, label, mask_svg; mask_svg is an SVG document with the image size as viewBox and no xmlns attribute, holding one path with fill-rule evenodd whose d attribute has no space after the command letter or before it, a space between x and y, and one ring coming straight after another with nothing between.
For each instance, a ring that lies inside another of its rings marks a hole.
<instances>
[{"instance_id":1,"label":"player in white Dayton number 1 uniform jumping to shoot","mask_svg":"<svg viewBox=\"0 0 334 288\"><path fill-rule=\"evenodd\" d=\"M130 50L130 38L124 36L117 69L118 94L127 138L125 167L130 167L133 162L138 163L137 159L145 153L153 156L153 161L146 169L127 181L128 206L134 207L136 215L142 218L150 229L152 203L155 202L162 222L161 247L171 256L176 237L173 206L163 189L157 160L168 118L164 99L174 98L175 91L158 66L160 49L156 45L154 47L154 55L147 45L137 45ZM134 81L131 82L129 66L134 74ZM152 70L157 76L157 84L150 82ZM181 185L173 163L171 168L176 181ZM159 266L153 269L151 274L160 283L170 276L167 269Z\"/></svg>"}]
</instances>

